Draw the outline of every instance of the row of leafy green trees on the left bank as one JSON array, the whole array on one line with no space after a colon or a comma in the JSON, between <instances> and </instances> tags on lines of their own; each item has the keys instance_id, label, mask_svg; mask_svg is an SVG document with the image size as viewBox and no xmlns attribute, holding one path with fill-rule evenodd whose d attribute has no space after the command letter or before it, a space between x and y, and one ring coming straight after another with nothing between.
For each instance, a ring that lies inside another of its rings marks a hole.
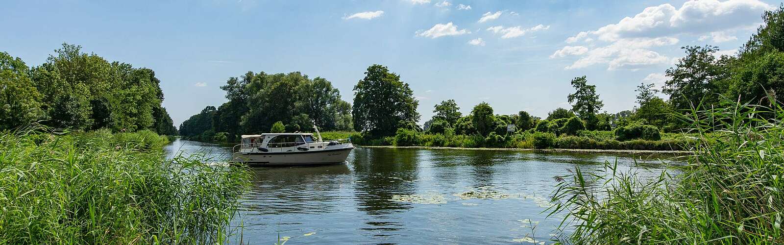
<instances>
[{"instance_id":1,"label":"row of leafy green trees on the left bank","mask_svg":"<svg viewBox=\"0 0 784 245\"><path fill-rule=\"evenodd\" d=\"M27 67L0 53L0 130L40 122L73 130L154 130L176 135L161 81L150 68L109 62L64 43L44 64Z\"/></svg>"}]
</instances>

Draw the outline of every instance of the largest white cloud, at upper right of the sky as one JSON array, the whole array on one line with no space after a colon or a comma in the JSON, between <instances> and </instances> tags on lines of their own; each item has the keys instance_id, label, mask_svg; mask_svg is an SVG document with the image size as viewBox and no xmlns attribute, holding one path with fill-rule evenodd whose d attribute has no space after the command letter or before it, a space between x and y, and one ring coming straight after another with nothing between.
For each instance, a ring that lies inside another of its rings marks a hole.
<instances>
[{"instance_id":1,"label":"largest white cloud, at upper right of the sky","mask_svg":"<svg viewBox=\"0 0 784 245\"><path fill-rule=\"evenodd\" d=\"M665 57L652 48L675 45L681 35L702 35L699 37L701 41L709 38L713 42L737 40L731 31L757 24L760 13L770 8L771 5L758 0L691 0L681 8L670 4L652 6L618 23L580 31L566 39L567 43L597 40L586 52L570 53L567 50L573 51L574 48L566 49L568 46L564 46L551 57L579 56L567 69L593 64L608 64L608 70L668 64L673 58Z\"/></svg>"}]
</instances>

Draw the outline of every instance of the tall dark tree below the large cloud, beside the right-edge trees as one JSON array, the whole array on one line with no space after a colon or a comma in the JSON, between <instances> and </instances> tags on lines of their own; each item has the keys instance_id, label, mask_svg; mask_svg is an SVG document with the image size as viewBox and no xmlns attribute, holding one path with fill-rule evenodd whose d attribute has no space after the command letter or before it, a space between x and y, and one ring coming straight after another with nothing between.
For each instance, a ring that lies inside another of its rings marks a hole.
<instances>
[{"instance_id":1,"label":"tall dark tree below the large cloud, beside the right-edge trees","mask_svg":"<svg viewBox=\"0 0 784 245\"><path fill-rule=\"evenodd\" d=\"M668 68L662 92L670 95L670 103L676 110L692 108L703 102L713 104L718 101L718 93L726 90L720 86L721 80L729 76L728 57L717 59L716 46L684 46L686 57L678 60L674 68Z\"/></svg>"}]
</instances>

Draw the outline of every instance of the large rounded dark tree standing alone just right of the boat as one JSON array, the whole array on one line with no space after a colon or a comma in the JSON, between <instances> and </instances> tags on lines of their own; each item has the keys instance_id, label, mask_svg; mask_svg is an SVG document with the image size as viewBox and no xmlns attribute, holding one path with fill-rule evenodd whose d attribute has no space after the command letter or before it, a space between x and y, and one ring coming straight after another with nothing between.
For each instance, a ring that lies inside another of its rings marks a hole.
<instances>
[{"instance_id":1,"label":"large rounded dark tree standing alone just right of the boat","mask_svg":"<svg viewBox=\"0 0 784 245\"><path fill-rule=\"evenodd\" d=\"M408 83L387 67L373 64L354 86L354 130L375 137L394 135L398 128L419 121L418 105Z\"/></svg>"}]
</instances>

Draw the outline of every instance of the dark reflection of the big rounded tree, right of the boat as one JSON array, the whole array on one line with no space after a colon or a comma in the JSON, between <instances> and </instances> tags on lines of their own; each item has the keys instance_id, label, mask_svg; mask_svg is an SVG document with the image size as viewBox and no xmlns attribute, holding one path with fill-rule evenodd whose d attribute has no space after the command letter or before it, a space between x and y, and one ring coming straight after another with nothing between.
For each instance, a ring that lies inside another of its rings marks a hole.
<instances>
[{"instance_id":1,"label":"dark reflection of the big rounded tree, right of the boat","mask_svg":"<svg viewBox=\"0 0 784 245\"><path fill-rule=\"evenodd\" d=\"M354 197L358 210L373 218L366 221L373 236L394 236L383 231L402 229L393 214L412 207L410 203L392 201L395 195L416 194L419 151L398 148L358 148L354 150Z\"/></svg>"}]
</instances>

